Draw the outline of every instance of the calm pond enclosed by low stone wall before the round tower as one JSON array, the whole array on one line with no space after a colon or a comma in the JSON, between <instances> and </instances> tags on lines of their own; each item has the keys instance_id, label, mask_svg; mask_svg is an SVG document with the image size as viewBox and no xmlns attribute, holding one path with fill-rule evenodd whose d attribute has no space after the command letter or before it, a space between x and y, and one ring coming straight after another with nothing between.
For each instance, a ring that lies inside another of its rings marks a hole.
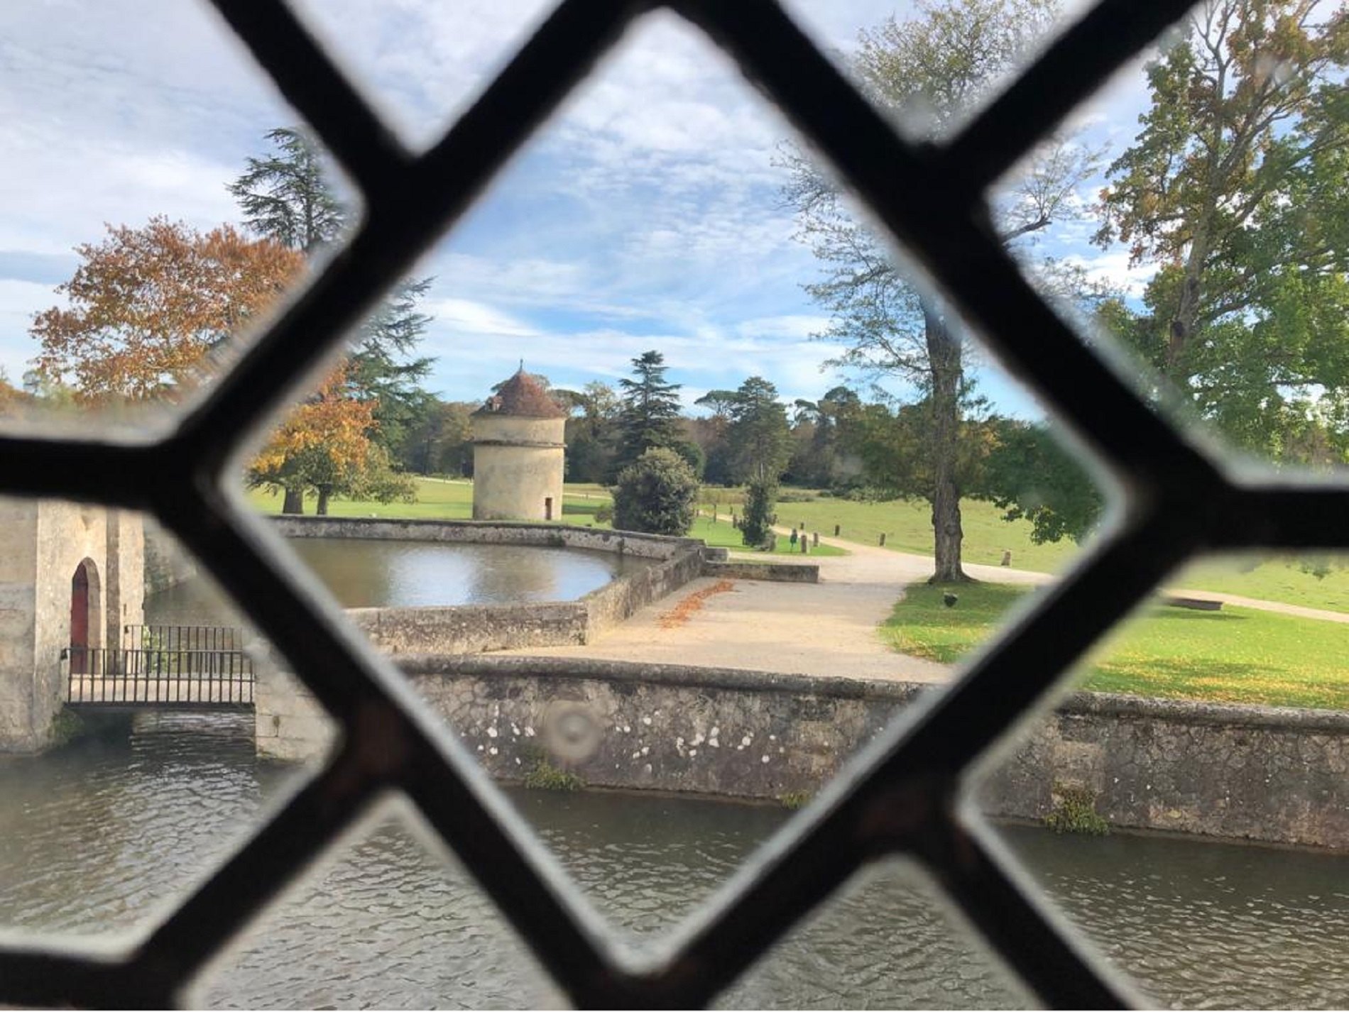
<instances>
[{"instance_id":1,"label":"calm pond enclosed by low stone wall before the round tower","mask_svg":"<svg viewBox=\"0 0 1349 1012\"><path fill-rule=\"evenodd\" d=\"M295 538L290 546L344 608L417 608L575 601L650 565L607 551L526 544L441 544ZM237 624L202 578L146 598L146 621Z\"/></svg>"}]
</instances>

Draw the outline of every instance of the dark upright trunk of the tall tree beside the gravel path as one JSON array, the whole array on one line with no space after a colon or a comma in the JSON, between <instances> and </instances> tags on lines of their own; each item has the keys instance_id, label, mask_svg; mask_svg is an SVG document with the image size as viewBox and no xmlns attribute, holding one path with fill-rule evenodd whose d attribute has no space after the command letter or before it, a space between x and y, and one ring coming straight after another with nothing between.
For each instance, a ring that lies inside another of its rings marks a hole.
<instances>
[{"instance_id":1,"label":"dark upright trunk of the tall tree beside the gravel path","mask_svg":"<svg viewBox=\"0 0 1349 1012\"><path fill-rule=\"evenodd\" d=\"M956 460L960 441L960 338L931 309L924 309L924 337L932 365L932 535L934 583L960 583L960 486Z\"/></svg>"}]
</instances>

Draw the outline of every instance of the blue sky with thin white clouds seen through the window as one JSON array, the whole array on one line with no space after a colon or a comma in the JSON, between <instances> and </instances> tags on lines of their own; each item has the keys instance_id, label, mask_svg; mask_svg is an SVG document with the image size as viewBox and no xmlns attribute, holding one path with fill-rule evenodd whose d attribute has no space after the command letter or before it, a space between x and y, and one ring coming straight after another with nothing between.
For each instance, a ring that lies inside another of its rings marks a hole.
<instances>
[{"instance_id":1,"label":"blue sky with thin white clouds seen through the window","mask_svg":"<svg viewBox=\"0 0 1349 1012\"><path fill-rule=\"evenodd\" d=\"M793 16L846 54L896 0L799 0ZM305 0L301 16L413 147L426 147L546 15L546 0ZM1118 152L1143 105L1135 67L1079 112L1085 143ZM237 222L225 186L297 123L206 4L46 0L0 7L0 368L18 383L36 342L32 314L74 247L105 224L163 214L200 229ZM776 164L791 131L692 27L639 22L425 257L428 387L480 400L521 360L558 387L612 383L664 353L685 406L747 376L784 399L840 380L828 315L803 290L819 276L782 205ZM340 183L339 183L340 185ZM1099 181L1083 186L1090 201ZM1121 249L1062 228L1054 253L1137 291ZM1033 403L987 361L998 410ZM893 387L902 393L901 387Z\"/></svg>"}]
</instances>

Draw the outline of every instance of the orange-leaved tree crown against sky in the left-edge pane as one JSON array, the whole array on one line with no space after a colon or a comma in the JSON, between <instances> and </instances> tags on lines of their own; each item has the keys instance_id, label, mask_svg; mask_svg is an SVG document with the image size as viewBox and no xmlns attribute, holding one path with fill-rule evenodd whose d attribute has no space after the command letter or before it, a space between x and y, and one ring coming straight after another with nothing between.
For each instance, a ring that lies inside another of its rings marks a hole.
<instances>
[{"instance_id":1,"label":"orange-leaved tree crown against sky in the left-edge pane","mask_svg":"<svg viewBox=\"0 0 1349 1012\"><path fill-rule=\"evenodd\" d=\"M163 217L109 225L103 243L76 252L82 263L57 286L67 306L36 314L31 333L39 385L67 385L82 403L179 398L304 270L271 240Z\"/></svg>"}]
</instances>

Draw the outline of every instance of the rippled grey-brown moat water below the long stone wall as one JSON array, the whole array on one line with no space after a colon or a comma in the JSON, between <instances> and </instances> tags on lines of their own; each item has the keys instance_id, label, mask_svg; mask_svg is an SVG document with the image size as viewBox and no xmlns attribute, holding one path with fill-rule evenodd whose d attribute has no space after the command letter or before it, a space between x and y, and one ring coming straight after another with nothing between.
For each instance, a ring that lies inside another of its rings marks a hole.
<instances>
[{"instance_id":1,"label":"rippled grey-brown moat water below the long stone wall","mask_svg":"<svg viewBox=\"0 0 1349 1012\"><path fill-rule=\"evenodd\" d=\"M0 926L146 928L248 830L294 767L250 726L144 716L130 733L0 761ZM511 798L621 930L656 938L786 818L776 807L618 794ZM1062 911L1153 1000L1349 1005L1349 860L1156 837L1008 827ZM395 815L289 891L212 969L227 1008L554 1004L523 946L459 868ZM902 865L881 866L788 937L727 1007L1025 1004Z\"/></svg>"}]
</instances>

